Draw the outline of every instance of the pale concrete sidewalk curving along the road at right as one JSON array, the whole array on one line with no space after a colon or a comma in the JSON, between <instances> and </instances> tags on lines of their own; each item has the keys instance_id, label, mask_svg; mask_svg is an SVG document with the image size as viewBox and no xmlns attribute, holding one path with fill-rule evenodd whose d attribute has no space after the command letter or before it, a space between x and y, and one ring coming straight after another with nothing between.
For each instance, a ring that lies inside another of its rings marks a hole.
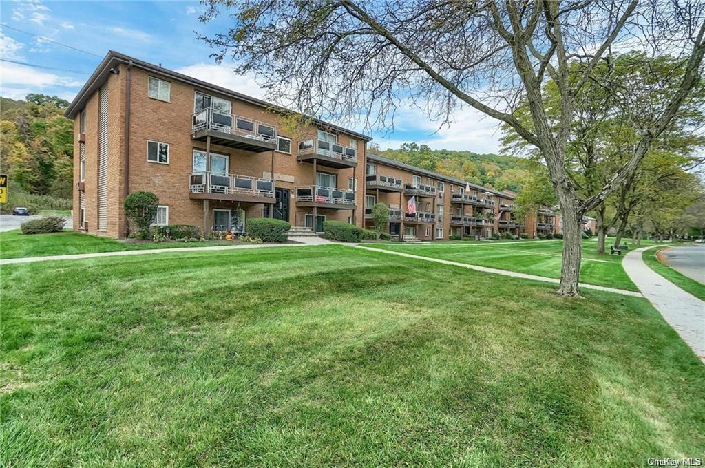
<instances>
[{"instance_id":1,"label":"pale concrete sidewalk curving along the road at right","mask_svg":"<svg viewBox=\"0 0 705 468\"><path fill-rule=\"evenodd\" d=\"M644 297L705 362L705 302L678 288L644 263L642 252L651 247L632 250L625 255L622 265Z\"/></svg>"}]
</instances>

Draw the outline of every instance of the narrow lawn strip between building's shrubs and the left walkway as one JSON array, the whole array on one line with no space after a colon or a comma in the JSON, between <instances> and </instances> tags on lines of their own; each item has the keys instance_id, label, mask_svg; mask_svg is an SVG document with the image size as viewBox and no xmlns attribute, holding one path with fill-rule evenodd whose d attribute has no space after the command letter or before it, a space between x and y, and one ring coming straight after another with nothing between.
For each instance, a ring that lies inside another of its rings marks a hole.
<instances>
[{"instance_id":1,"label":"narrow lawn strip between building's shrubs and the left walkway","mask_svg":"<svg viewBox=\"0 0 705 468\"><path fill-rule=\"evenodd\" d=\"M43 255L88 254L92 252L118 252L121 250L176 249L179 247L206 247L231 245L232 242L162 242L159 244L130 244L111 238L65 230L53 234L23 234L20 230L0 233L0 258L42 257Z\"/></svg>"}]
</instances>

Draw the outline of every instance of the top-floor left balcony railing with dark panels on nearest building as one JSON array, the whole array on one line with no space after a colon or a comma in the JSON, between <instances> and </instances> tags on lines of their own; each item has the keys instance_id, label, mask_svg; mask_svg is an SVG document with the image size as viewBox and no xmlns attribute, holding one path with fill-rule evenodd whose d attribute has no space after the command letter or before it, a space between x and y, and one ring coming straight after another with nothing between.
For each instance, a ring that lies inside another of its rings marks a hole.
<instances>
[{"instance_id":1,"label":"top-floor left balcony railing with dark panels on nearest building","mask_svg":"<svg viewBox=\"0 0 705 468\"><path fill-rule=\"evenodd\" d=\"M201 130L216 130L261 142L276 142L277 128L271 123L254 121L251 118L236 116L218 109L203 109L192 114L193 133Z\"/></svg>"}]
</instances>

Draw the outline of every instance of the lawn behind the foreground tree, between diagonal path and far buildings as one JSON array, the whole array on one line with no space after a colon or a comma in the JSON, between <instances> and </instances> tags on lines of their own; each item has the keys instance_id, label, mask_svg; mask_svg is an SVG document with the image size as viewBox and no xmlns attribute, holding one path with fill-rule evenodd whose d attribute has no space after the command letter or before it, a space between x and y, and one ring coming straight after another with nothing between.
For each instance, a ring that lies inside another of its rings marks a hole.
<instances>
[{"instance_id":1,"label":"lawn behind the foreground tree, between diagonal path and far buildings","mask_svg":"<svg viewBox=\"0 0 705 468\"><path fill-rule=\"evenodd\" d=\"M425 245L400 243L398 245L371 244L370 247L518 271L548 278L560 278L563 241L546 240L516 244L513 242L503 244L481 242L479 245L465 245L463 242ZM594 241L584 240L582 258L580 281L583 283L638 291L622 268L623 257L596 254Z\"/></svg>"}]
</instances>

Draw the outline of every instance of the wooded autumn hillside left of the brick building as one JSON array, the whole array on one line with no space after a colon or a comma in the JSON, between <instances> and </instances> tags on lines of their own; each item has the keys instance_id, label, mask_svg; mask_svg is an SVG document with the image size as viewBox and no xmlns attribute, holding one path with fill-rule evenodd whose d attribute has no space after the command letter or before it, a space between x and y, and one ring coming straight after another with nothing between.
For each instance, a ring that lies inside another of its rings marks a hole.
<instances>
[{"instance_id":1,"label":"wooded autumn hillside left of the brick building","mask_svg":"<svg viewBox=\"0 0 705 468\"><path fill-rule=\"evenodd\" d=\"M66 106L45 94L0 98L0 168L10 180L4 209L71 208L73 121L63 116Z\"/></svg>"}]
</instances>

